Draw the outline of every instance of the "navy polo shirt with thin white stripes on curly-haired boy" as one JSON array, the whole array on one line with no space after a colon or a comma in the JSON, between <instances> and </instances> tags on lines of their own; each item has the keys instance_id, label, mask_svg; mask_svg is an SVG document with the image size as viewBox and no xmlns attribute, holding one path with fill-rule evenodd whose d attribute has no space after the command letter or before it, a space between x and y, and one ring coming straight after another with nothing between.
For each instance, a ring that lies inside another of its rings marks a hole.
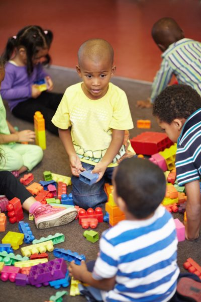
<instances>
[{"instance_id":1,"label":"navy polo shirt with thin white stripes on curly-haired boy","mask_svg":"<svg viewBox=\"0 0 201 302\"><path fill-rule=\"evenodd\" d=\"M201 109L191 114L183 125L177 141L175 166L179 186L201 177Z\"/></svg>"}]
</instances>

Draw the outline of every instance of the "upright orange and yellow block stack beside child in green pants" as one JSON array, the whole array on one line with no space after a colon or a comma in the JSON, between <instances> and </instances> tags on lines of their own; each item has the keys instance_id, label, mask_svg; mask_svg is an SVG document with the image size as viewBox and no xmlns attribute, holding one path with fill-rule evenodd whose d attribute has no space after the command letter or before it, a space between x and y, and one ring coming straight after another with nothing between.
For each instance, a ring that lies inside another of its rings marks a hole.
<instances>
[{"instance_id":1,"label":"upright orange and yellow block stack beside child in green pants","mask_svg":"<svg viewBox=\"0 0 201 302\"><path fill-rule=\"evenodd\" d=\"M40 111L34 114L34 130L36 134L36 144L43 150L46 149L46 136L45 136L45 120Z\"/></svg>"}]
</instances>

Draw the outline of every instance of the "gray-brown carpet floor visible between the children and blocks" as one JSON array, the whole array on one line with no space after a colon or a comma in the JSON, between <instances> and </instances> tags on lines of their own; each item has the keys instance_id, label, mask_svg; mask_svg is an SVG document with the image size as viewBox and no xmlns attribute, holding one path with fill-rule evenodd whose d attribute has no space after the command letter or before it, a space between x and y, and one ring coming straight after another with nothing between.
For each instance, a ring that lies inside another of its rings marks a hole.
<instances>
[{"instance_id":1,"label":"gray-brown carpet floor visible between the children and blocks","mask_svg":"<svg viewBox=\"0 0 201 302\"><path fill-rule=\"evenodd\" d=\"M79 78L75 70L67 68L57 68L53 66L49 68L48 72L50 73L53 82L54 82L54 91L64 93L65 89L77 82ZM159 127L156 124L156 121L152 117L151 109L137 109L136 101L140 99L146 99L150 95L151 85L149 83L136 82L129 79L113 78L112 82L122 88L129 100L130 110L133 117L134 129L130 131L130 137L136 136L137 134L145 131L143 129L137 129L136 121L137 119L150 119L152 126L150 131L160 131ZM24 129L33 129L33 124L29 122L22 121L15 118L7 108L7 118L14 125L18 126L20 130ZM51 171L53 173L70 176L69 162L63 145L61 144L59 137L46 131L46 140L47 140L47 149L44 150L43 161L32 171L35 177L35 181L39 182L43 180L43 172ZM68 187L68 192L71 188ZM173 214L174 218L179 218L181 221L183 216L181 214ZM41 237L47 237L48 235L54 235L55 233L63 233L65 235L65 242L56 245L56 248L70 249L73 252L79 254L84 254L86 260L94 260L98 252L98 242L92 244L83 237L83 229L78 224L77 220L72 221L69 224L63 226L57 226L52 229L46 230L37 230L34 224L34 221L29 221L28 214L25 213L25 222L29 222L32 232L36 239ZM97 226L97 231L99 237L104 230L108 228L107 223L99 223ZM19 232L18 224L11 224L8 222L7 230L5 233L0 233L0 242L2 238L6 235L7 232ZM23 244L21 247L26 246ZM182 264L189 257L193 258L196 262L201 265L201 256L200 256L200 246L201 239L199 238L196 242L180 242L178 244L178 265L180 270L184 272L185 270L182 267ZM21 254L20 249L16 250L15 253ZM54 256L52 253L49 253L49 259L53 259ZM65 290L65 288L60 288L59 290ZM69 287L67 288L69 291ZM16 286L15 283L10 281L3 282L0 280L0 301L16 301L19 299L21 302L44 302L48 300L49 297L55 294L57 290L47 286L36 288L34 286L27 285L26 287ZM84 301L85 298L82 296L67 296L63 298L63 301Z\"/></svg>"}]
</instances>

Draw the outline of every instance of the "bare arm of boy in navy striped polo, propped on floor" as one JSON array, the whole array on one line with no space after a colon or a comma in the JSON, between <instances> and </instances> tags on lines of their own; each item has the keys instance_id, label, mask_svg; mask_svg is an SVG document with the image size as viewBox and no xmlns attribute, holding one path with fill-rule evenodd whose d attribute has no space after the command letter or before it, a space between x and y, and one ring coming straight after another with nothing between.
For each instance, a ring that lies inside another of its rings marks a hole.
<instances>
[{"instance_id":1,"label":"bare arm of boy in navy striped polo, propped on floor","mask_svg":"<svg viewBox=\"0 0 201 302\"><path fill-rule=\"evenodd\" d=\"M199 236L201 225L201 195L199 181L195 180L185 184L187 195L186 217L187 217L187 239L193 240Z\"/></svg>"}]
</instances>

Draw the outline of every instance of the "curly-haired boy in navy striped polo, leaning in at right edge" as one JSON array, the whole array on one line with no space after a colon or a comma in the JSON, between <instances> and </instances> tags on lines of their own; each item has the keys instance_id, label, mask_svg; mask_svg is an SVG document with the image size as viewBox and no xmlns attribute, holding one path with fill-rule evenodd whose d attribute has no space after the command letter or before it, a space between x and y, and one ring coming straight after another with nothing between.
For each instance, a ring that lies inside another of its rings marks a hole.
<instances>
[{"instance_id":1,"label":"curly-haired boy in navy striped polo, leaning in at right edge","mask_svg":"<svg viewBox=\"0 0 201 302\"><path fill-rule=\"evenodd\" d=\"M156 98L153 115L177 142L176 178L187 195L186 239L197 239L201 225L201 97L190 86L169 86Z\"/></svg>"}]
</instances>

